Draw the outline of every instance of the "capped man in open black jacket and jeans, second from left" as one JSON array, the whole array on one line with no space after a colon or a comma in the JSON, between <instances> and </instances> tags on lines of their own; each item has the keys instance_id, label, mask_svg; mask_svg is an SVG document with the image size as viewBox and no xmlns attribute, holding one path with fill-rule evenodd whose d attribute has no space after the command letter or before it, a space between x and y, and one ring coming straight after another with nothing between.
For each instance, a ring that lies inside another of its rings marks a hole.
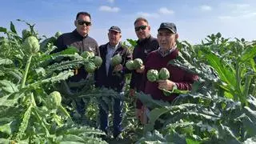
<instances>
[{"instance_id":1,"label":"capped man in open black jacket and jeans, second from left","mask_svg":"<svg viewBox=\"0 0 256 144\"><path fill-rule=\"evenodd\" d=\"M108 32L109 42L105 45L99 46L100 55L102 57L102 66L96 71L97 77L95 78L95 85L98 87L106 87L118 92L120 98L114 98L114 138L122 132L122 95L125 90L126 78L125 74L130 73L126 69L125 64L132 58L130 51L122 46L120 39L122 37L121 30L118 26L111 26ZM114 55L120 54L122 57L121 64L111 66L110 60ZM118 73L118 74L117 74ZM100 128L108 132L108 110L104 110L99 106Z\"/></svg>"}]
</instances>

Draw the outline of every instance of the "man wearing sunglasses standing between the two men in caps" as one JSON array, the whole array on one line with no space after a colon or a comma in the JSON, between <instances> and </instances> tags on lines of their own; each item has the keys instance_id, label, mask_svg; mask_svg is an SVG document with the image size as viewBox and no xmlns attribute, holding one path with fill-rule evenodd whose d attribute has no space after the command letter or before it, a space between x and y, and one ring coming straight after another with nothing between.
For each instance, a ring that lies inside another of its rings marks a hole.
<instances>
[{"instance_id":1,"label":"man wearing sunglasses standing between the two men in caps","mask_svg":"<svg viewBox=\"0 0 256 144\"><path fill-rule=\"evenodd\" d=\"M150 35L150 25L146 18L137 18L134 22L134 30L138 41L137 45L134 47L133 59L141 58L143 63L145 63L147 55L151 51L158 49L158 40ZM144 66L138 70L132 71L130 80L130 96L132 97L134 97L135 90L140 91L143 72ZM142 118L141 110L136 110L135 113L138 118Z\"/></svg>"}]
</instances>

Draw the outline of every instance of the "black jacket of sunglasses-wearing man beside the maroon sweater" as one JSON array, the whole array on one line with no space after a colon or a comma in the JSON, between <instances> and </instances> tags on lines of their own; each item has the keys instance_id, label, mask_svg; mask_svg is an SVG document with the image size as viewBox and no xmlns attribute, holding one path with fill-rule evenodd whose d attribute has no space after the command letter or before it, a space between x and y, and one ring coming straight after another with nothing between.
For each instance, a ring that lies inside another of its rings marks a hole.
<instances>
[{"instance_id":1,"label":"black jacket of sunglasses-wearing man beside the maroon sweater","mask_svg":"<svg viewBox=\"0 0 256 144\"><path fill-rule=\"evenodd\" d=\"M157 38L149 37L144 40L137 41L137 45L134 47L133 59L141 58L143 63L146 63L146 57L151 51L157 50L159 47ZM139 74L136 70L132 71L132 76L130 80L130 88L136 88L139 90L140 84L142 82L143 74Z\"/></svg>"}]
</instances>

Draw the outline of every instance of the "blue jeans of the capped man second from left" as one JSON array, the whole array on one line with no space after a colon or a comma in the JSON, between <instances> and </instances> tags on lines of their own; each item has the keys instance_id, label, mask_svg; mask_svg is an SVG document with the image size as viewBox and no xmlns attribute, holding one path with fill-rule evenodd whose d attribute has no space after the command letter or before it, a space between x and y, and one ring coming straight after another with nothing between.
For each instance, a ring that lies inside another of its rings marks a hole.
<instances>
[{"instance_id":1,"label":"blue jeans of the capped man second from left","mask_svg":"<svg viewBox=\"0 0 256 144\"><path fill-rule=\"evenodd\" d=\"M123 101L121 99L121 96L123 95L123 92L120 93L120 98L114 98L114 119L113 119L113 135L114 138L118 136L122 132L122 108L123 108ZM106 104L106 103L105 103ZM100 129L104 131L107 134L108 129L108 115L109 110L108 106L106 104L105 106L107 110L104 110L101 105L99 105L99 116L100 116Z\"/></svg>"}]
</instances>

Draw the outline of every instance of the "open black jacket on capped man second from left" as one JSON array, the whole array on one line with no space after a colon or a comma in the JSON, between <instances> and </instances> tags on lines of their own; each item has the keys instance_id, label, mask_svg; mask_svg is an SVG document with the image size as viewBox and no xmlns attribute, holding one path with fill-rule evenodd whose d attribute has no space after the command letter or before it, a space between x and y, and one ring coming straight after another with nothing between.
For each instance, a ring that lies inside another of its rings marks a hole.
<instances>
[{"instance_id":1,"label":"open black jacket on capped man second from left","mask_svg":"<svg viewBox=\"0 0 256 144\"><path fill-rule=\"evenodd\" d=\"M122 56L122 66L123 70L118 72L118 74L113 74L114 67L110 66L109 71L107 72L108 75L106 75L106 54L107 54L107 45L99 46L100 55L102 57L102 66L98 68L95 74L95 85L98 87L106 87L111 88L113 90L116 90L118 92L121 92L125 88L126 84L126 78L125 74L130 73L130 70L128 70L126 66L126 62L131 60L132 54L130 53L130 50L128 50L126 47L119 46L117 50L115 50L114 55L120 54Z\"/></svg>"}]
</instances>

